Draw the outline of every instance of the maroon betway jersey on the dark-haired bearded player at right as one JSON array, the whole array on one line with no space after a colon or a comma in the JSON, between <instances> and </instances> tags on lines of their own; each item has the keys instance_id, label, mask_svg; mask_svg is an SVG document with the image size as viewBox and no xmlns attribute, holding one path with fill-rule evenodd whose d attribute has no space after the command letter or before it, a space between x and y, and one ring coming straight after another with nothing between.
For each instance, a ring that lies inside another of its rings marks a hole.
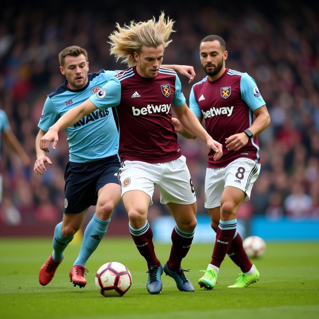
<instances>
[{"instance_id":1,"label":"maroon betway jersey on the dark-haired bearded player at right","mask_svg":"<svg viewBox=\"0 0 319 319\"><path fill-rule=\"evenodd\" d=\"M213 160L214 152L208 153L208 167L226 167L233 160L246 157L260 163L257 136L238 152L228 151L226 137L241 133L253 122L253 112L265 105L256 82L247 73L226 68L216 81L205 77L193 85L189 107L196 116L204 117L207 132L223 145L223 156Z\"/></svg>"}]
</instances>

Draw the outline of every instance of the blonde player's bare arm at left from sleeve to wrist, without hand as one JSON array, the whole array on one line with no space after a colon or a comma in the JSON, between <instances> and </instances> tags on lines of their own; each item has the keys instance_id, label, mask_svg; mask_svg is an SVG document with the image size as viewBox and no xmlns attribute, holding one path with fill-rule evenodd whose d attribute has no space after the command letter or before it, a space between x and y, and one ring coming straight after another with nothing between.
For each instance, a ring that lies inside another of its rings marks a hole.
<instances>
[{"instance_id":1,"label":"blonde player's bare arm at left from sleeve to wrist, without hand","mask_svg":"<svg viewBox=\"0 0 319 319\"><path fill-rule=\"evenodd\" d=\"M90 100L86 100L82 104L76 106L75 108L71 108L68 112L63 114L55 122L55 124L53 124L49 128L49 130L51 130L51 131L54 130L56 132L64 130L67 127L78 122L85 115L88 115L89 113L93 112L96 109L97 109L97 107Z\"/></svg>"}]
</instances>

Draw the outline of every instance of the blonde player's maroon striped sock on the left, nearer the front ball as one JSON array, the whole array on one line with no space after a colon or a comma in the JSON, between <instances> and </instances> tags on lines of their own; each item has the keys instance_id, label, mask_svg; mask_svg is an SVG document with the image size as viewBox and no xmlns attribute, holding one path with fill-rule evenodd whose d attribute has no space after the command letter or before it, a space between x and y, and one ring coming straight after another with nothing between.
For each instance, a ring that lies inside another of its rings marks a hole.
<instances>
[{"instance_id":1,"label":"blonde player's maroon striped sock on the left, nearer the front ball","mask_svg":"<svg viewBox=\"0 0 319 319\"><path fill-rule=\"evenodd\" d=\"M135 246L139 253L145 258L147 267L150 268L154 265L159 266L160 263L155 255L154 244L152 241L153 232L148 221L146 220L145 225L139 229L134 229L130 224L129 228Z\"/></svg>"}]
</instances>

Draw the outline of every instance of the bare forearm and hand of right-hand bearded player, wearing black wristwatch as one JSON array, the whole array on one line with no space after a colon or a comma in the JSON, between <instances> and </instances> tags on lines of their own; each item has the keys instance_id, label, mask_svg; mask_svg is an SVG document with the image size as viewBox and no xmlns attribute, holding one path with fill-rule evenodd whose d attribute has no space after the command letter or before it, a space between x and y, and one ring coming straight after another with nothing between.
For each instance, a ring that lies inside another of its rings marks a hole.
<instances>
[{"instance_id":1,"label":"bare forearm and hand of right-hand bearded player, wearing black wristwatch","mask_svg":"<svg viewBox=\"0 0 319 319\"><path fill-rule=\"evenodd\" d=\"M253 124L247 129L253 133L253 136L261 133L269 124L270 116L265 105L260 108L257 108L253 111L256 115L256 119ZM245 146L249 141L249 137L246 133L241 132L230 137L226 137L226 147L229 151L239 151L243 146Z\"/></svg>"}]
</instances>

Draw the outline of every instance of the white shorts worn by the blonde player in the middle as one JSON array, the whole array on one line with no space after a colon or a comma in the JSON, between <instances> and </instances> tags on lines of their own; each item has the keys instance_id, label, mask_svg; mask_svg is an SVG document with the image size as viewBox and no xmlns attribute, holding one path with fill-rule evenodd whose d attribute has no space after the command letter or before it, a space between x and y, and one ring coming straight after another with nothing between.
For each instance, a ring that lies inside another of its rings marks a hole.
<instances>
[{"instance_id":1,"label":"white shorts worn by the blonde player in the middle","mask_svg":"<svg viewBox=\"0 0 319 319\"><path fill-rule=\"evenodd\" d=\"M126 160L121 163L118 177L122 196L130 190L141 190L151 197L150 205L153 204L154 185L159 188L162 204L189 205L196 202L195 189L183 155L157 164Z\"/></svg>"}]
</instances>

